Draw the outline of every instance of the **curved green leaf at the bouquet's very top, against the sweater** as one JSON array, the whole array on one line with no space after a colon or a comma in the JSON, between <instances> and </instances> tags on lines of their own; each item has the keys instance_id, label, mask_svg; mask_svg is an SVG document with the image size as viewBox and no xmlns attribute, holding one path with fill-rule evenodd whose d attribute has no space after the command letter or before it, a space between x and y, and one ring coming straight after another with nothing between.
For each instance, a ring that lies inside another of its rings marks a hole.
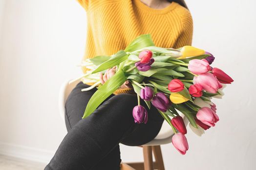
<instances>
[{"instance_id":1,"label":"curved green leaf at the bouquet's very top, against the sweater","mask_svg":"<svg viewBox=\"0 0 256 170\"><path fill-rule=\"evenodd\" d=\"M144 47L154 46L154 42L150 34L142 34L135 38L125 49L126 52L132 52Z\"/></svg>"}]
</instances>

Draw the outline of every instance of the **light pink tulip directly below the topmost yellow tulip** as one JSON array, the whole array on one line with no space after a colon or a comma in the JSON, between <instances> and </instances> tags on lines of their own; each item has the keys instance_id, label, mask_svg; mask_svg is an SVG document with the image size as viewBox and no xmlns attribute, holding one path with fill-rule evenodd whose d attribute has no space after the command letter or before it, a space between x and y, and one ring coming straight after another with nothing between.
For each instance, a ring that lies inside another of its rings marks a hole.
<instances>
[{"instance_id":1,"label":"light pink tulip directly below the topmost yellow tulip","mask_svg":"<svg viewBox=\"0 0 256 170\"><path fill-rule=\"evenodd\" d=\"M211 70L207 61L199 59L190 60L188 68L194 74L203 74Z\"/></svg>"}]
</instances>

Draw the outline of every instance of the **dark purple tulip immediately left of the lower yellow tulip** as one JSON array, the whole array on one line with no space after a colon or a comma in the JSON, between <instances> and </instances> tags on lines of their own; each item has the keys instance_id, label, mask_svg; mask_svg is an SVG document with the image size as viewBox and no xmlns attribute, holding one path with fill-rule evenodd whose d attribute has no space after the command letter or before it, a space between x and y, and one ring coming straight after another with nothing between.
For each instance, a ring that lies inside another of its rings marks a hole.
<instances>
[{"instance_id":1,"label":"dark purple tulip immediately left of the lower yellow tulip","mask_svg":"<svg viewBox=\"0 0 256 170\"><path fill-rule=\"evenodd\" d=\"M162 92L156 93L152 98L151 103L162 112L166 112L169 105L171 104L166 95Z\"/></svg>"}]
</instances>

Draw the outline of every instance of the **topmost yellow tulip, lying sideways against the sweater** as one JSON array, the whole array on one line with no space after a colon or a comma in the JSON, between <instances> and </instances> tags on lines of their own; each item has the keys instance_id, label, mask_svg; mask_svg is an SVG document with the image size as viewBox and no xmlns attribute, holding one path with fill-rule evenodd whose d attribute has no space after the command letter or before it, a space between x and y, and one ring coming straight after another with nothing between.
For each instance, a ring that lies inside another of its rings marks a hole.
<instances>
[{"instance_id":1,"label":"topmost yellow tulip, lying sideways against the sweater","mask_svg":"<svg viewBox=\"0 0 256 170\"><path fill-rule=\"evenodd\" d=\"M193 57L193 56L198 56L198 55L203 55L205 53L204 50L197 49L192 46L184 46L181 48L181 54L182 56L179 57L178 59L186 58L186 57Z\"/></svg>"}]
</instances>

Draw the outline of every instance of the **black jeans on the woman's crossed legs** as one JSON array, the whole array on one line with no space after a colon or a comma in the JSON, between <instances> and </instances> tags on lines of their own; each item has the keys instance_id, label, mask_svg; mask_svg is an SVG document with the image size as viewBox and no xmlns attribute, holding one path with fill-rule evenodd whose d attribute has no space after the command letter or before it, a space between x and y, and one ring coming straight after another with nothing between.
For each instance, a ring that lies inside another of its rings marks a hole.
<instances>
[{"instance_id":1,"label":"black jeans on the woman's crossed legs","mask_svg":"<svg viewBox=\"0 0 256 170\"><path fill-rule=\"evenodd\" d=\"M148 110L148 123L134 123L132 109L135 94L112 94L90 116L81 119L85 107L97 90L80 82L70 93L65 104L67 135L44 170L120 170L119 143L143 145L157 136L163 123L156 108Z\"/></svg>"}]
</instances>

